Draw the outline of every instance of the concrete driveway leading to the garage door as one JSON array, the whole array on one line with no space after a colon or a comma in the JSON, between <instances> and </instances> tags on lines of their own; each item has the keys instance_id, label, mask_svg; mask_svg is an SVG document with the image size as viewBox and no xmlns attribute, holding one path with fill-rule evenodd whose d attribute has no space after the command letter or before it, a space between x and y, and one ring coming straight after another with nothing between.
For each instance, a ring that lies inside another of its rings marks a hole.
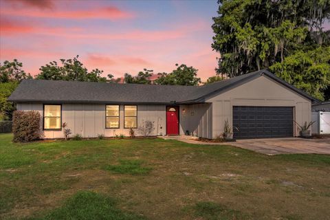
<instances>
[{"instance_id":1,"label":"concrete driveway leading to the garage door","mask_svg":"<svg viewBox=\"0 0 330 220\"><path fill-rule=\"evenodd\" d=\"M225 144L238 146L267 155L288 153L318 153L330 155L330 138L303 139L298 137L237 140Z\"/></svg>"}]
</instances>

